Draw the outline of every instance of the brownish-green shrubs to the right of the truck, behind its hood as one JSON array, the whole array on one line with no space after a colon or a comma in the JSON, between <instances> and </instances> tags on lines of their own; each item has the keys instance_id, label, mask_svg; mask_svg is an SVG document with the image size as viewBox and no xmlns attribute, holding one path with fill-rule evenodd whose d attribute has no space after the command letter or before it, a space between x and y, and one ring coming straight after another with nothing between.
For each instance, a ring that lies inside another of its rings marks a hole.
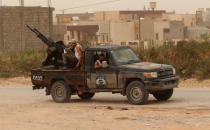
<instances>
[{"instance_id":1,"label":"brownish-green shrubs to the right of the truck, behind its hood","mask_svg":"<svg viewBox=\"0 0 210 130\"><path fill-rule=\"evenodd\" d=\"M171 64L183 78L210 78L210 43L181 41L139 52L144 61Z\"/></svg>"}]
</instances>

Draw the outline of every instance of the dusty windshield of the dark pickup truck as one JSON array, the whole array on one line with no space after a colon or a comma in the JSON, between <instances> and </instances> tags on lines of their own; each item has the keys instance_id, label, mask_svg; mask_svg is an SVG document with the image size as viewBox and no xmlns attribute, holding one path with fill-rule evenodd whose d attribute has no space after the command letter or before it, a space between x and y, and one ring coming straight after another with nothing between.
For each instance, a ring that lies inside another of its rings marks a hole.
<instances>
[{"instance_id":1,"label":"dusty windshield of the dark pickup truck","mask_svg":"<svg viewBox=\"0 0 210 130\"><path fill-rule=\"evenodd\" d=\"M130 48L113 50L111 51L111 55L118 65L140 62L137 55Z\"/></svg>"}]
</instances>

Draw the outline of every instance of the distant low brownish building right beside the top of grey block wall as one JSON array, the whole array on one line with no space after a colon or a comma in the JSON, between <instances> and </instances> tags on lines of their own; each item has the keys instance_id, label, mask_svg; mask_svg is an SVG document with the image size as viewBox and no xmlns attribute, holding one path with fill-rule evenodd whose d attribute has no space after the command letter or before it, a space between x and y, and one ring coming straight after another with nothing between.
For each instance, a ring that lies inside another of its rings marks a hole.
<instances>
[{"instance_id":1,"label":"distant low brownish building right beside the top of grey block wall","mask_svg":"<svg viewBox=\"0 0 210 130\"><path fill-rule=\"evenodd\" d=\"M96 24L93 13L57 14L57 24L87 25Z\"/></svg>"}]
</instances>

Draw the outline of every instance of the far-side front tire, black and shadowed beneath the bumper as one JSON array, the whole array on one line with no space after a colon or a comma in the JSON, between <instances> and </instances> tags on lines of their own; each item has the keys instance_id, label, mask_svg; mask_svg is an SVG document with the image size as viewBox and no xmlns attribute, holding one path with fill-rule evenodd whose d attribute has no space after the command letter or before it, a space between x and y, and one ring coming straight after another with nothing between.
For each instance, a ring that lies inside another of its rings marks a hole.
<instances>
[{"instance_id":1,"label":"far-side front tire, black and shadowed beneath the bumper","mask_svg":"<svg viewBox=\"0 0 210 130\"><path fill-rule=\"evenodd\" d=\"M153 96L158 100L158 101L167 101L168 99L171 98L173 95L174 89L168 89L168 90L163 90L163 91L158 91L156 93L153 93Z\"/></svg>"}]
</instances>

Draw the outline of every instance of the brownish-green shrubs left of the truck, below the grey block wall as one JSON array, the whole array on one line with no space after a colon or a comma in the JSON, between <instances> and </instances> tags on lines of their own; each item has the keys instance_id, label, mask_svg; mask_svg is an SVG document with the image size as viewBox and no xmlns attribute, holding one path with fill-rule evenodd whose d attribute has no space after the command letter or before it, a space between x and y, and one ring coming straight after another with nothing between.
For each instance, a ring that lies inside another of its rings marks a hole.
<instances>
[{"instance_id":1,"label":"brownish-green shrubs left of the truck, below the grey block wall","mask_svg":"<svg viewBox=\"0 0 210 130\"><path fill-rule=\"evenodd\" d=\"M29 76L31 69L40 67L44 58L44 51L0 54L0 77Z\"/></svg>"}]
</instances>

